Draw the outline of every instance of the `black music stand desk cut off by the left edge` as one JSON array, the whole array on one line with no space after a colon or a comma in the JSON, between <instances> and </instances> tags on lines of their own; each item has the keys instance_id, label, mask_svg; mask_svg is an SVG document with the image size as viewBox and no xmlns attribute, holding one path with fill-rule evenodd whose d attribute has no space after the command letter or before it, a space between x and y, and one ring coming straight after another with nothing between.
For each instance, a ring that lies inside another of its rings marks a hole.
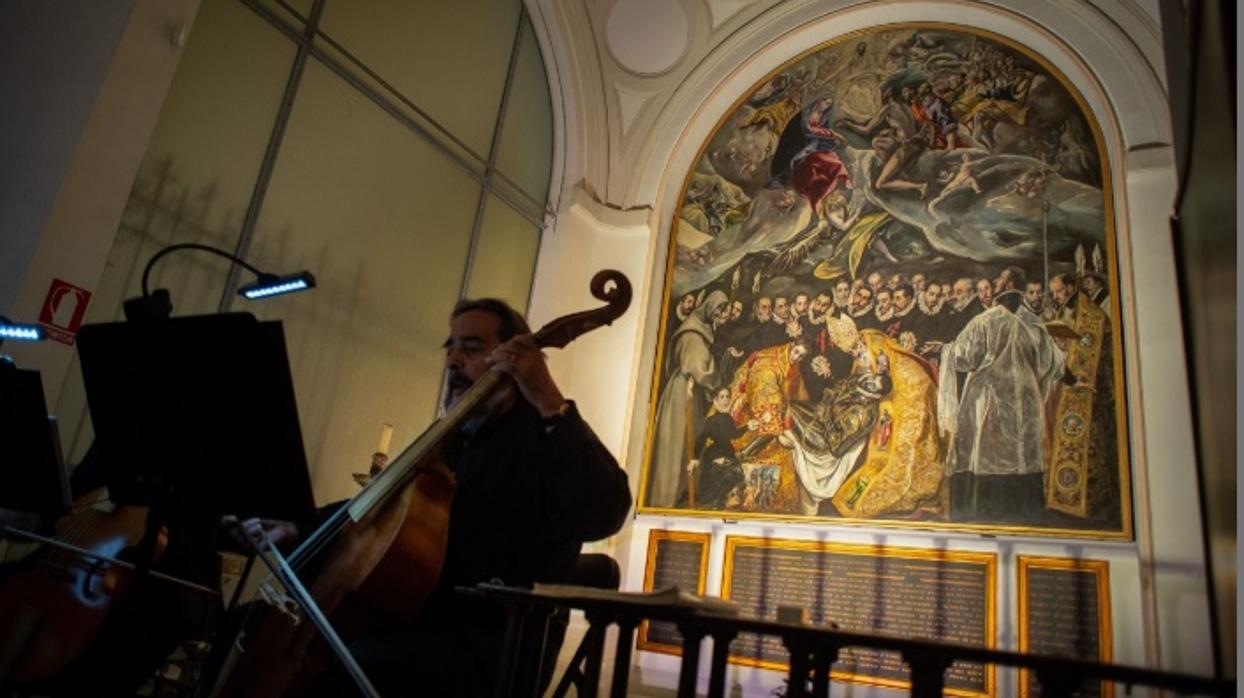
<instances>
[{"instance_id":1,"label":"black music stand desk cut off by the left edge","mask_svg":"<svg viewBox=\"0 0 1244 698\"><path fill-rule=\"evenodd\" d=\"M68 509L55 423L39 371L0 360L0 508L53 520Z\"/></svg>"}]
</instances>

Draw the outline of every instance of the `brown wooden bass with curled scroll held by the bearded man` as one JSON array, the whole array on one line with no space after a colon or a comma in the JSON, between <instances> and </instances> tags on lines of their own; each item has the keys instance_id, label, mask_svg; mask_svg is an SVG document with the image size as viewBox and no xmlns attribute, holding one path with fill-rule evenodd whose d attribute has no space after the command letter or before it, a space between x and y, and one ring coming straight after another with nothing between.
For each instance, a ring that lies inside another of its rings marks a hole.
<instances>
[{"instance_id":1,"label":"brown wooden bass with curled scroll held by the bearded man","mask_svg":"<svg viewBox=\"0 0 1244 698\"><path fill-rule=\"evenodd\" d=\"M631 302L631 285L617 271L597 272L591 292L607 305L550 322L534 335L536 345L565 347L612 323ZM444 560L455 486L440 460L442 447L509 383L504 373L484 373L290 556L294 570L313 567L305 575L307 592L343 637L411 620L430 595ZM317 638L316 627L297 622L297 613L265 613L240 633L213 694L300 693L333 661Z\"/></svg>"}]
</instances>

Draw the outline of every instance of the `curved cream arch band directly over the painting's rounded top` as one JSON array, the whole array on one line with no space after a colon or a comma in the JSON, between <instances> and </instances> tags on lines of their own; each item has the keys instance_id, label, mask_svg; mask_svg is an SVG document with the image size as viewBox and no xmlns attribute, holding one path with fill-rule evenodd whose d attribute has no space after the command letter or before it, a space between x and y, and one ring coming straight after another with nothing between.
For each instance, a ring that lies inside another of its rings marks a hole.
<instances>
[{"instance_id":1,"label":"curved cream arch band directly over the painting's rounded top","mask_svg":"<svg viewBox=\"0 0 1244 698\"><path fill-rule=\"evenodd\" d=\"M651 203L659 209L659 199L663 194L673 195L669 194L677 188L673 180L680 182L718 119L750 86L790 57L848 31L918 20L978 26L1044 55L1088 101L1102 122L1107 148L1116 157L1121 156L1120 146L1171 139L1166 95L1152 57L1143 55L1137 42L1122 34L1120 24L1087 1L861 1L850 5L787 1L754 17L715 46L674 95L663 100L647 132L632 133L632 141L641 137L647 141L633 161L615 169L615 174L631 174L618 203ZM616 188L610 192L612 194Z\"/></svg>"}]
</instances>

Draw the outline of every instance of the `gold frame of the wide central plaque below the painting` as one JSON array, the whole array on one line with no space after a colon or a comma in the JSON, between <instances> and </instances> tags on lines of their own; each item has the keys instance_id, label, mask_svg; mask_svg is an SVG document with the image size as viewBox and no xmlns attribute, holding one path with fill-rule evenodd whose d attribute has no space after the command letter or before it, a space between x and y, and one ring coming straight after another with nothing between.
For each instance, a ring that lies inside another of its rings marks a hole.
<instances>
[{"instance_id":1,"label":"gold frame of the wide central plaque below the painting","mask_svg":"<svg viewBox=\"0 0 1244 698\"><path fill-rule=\"evenodd\" d=\"M838 555L857 555L857 556L872 556L872 557L896 557L902 560L932 560L932 561L944 561L944 562L967 562L977 564L984 566L985 572L985 648L993 649L998 646L998 623L996 623L996 587L998 587L998 556L993 552L969 552L969 551L955 551L955 550L934 550L927 547L901 547L901 546L883 546L883 545L868 545L868 544L846 544L846 542L822 542L816 540L784 540L784 539L768 539L768 537L754 537L754 536L728 536L725 539L725 560L722 566L722 598L731 598L731 576L734 572L734 559L735 551L739 547L769 547L774 550L799 550L799 551L816 551L816 552L832 552ZM731 664L746 666L746 667L759 667L774 671L789 671L789 664L782 662L773 662L769 659L759 659L754 657L740 657L734 653L730 654L729 662ZM985 673L985 689L983 692L964 691L959 688L945 688L947 696L965 696L965 697L983 697L994 696L996 691L996 667L994 664L984 666ZM911 681L898 681L886 677L875 677L870 674L858 674L843 671L831 671L830 678L835 681L857 683L863 686L881 686L886 688L898 688L898 689L911 689Z\"/></svg>"}]
</instances>

